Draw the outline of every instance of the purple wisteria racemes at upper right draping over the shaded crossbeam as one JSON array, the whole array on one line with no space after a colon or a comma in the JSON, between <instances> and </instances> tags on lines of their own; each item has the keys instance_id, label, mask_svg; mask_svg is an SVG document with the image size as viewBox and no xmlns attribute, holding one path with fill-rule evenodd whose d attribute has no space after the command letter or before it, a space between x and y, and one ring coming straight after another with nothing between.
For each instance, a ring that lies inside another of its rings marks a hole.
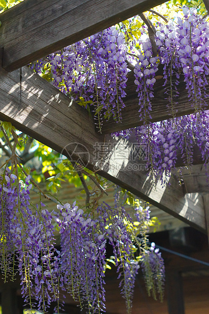
<instances>
[{"instance_id":1,"label":"purple wisteria racemes at upper right draping over the shaded crossbeam","mask_svg":"<svg viewBox=\"0 0 209 314\"><path fill-rule=\"evenodd\" d=\"M177 23L170 21L168 25L158 25L155 37L157 57L152 55L149 39L141 42L143 53L138 56L140 62L136 58L134 73L140 112L144 111L143 116L147 113L148 117L152 115L150 111L151 98L154 97L154 76L160 63L163 65L164 91L172 117L177 112L175 104L178 103L177 86L181 75L184 76L188 98L195 112L205 106L206 75L209 74L209 27L206 20L202 20L193 8L184 8L183 12L184 19L177 18Z\"/></svg>"}]
</instances>

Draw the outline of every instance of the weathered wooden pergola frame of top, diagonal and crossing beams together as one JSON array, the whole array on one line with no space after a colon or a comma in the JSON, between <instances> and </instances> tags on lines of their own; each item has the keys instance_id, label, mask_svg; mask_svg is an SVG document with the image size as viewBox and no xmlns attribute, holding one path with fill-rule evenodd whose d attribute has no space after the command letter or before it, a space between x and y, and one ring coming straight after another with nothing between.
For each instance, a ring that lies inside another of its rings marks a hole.
<instances>
[{"instance_id":1,"label":"weathered wooden pergola frame of top, diagonal and crossing beams together","mask_svg":"<svg viewBox=\"0 0 209 314\"><path fill-rule=\"evenodd\" d=\"M0 119L11 122L18 130L56 151L82 161L90 170L133 192L165 212L207 233L209 227L209 193L201 173L200 154L194 154L193 173L184 175L184 185L170 178L166 187L153 180L147 171L134 171L130 158L134 145L110 133L135 126L139 122L137 93L130 72L126 108L122 123L103 124L96 132L93 117L69 97L30 70L26 64L71 45L84 37L112 26L164 0L25 0L0 15ZM155 86L152 121L169 117L162 95L161 80ZM206 99L209 108L209 99ZM192 113L184 87L179 97L178 115ZM95 147L111 147L100 160L95 160ZM86 153L88 151L88 153ZM121 158L121 151L123 158ZM114 158L113 158L114 156ZM183 166L179 159L178 166ZM97 167L97 168L95 168ZM127 170L127 169L132 170Z\"/></svg>"}]
</instances>

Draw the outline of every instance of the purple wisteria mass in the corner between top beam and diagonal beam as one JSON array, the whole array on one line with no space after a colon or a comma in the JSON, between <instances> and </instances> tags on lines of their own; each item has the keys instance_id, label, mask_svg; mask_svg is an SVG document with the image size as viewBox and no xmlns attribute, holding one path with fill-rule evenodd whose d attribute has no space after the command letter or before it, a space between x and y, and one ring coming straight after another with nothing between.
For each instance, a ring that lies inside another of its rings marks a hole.
<instances>
[{"instance_id":1,"label":"purple wisteria mass in the corner between top beam and diagonal beam","mask_svg":"<svg viewBox=\"0 0 209 314\"><path fill-rule=\"evenodd\" d=\"M50 69L52 82L80 104L92 104L96 124L121 120L127 81L124 34L112 26L31 65L38 73ZM101 113L102 111L102 113Z\"/></svg>"}]
</instances>

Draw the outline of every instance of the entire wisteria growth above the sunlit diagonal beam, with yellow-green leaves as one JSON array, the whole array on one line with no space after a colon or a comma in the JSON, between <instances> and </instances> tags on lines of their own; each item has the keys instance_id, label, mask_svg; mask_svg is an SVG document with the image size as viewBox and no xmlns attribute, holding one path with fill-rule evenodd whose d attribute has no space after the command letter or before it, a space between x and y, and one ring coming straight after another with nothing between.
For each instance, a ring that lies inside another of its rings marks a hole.
<instances>
[{"instance_id":1,"label":"entire wisteria growth above the sunlit diagonal beam, with yellow-green leaves","mask_svg":"<svg viewBox=\"0 0 209 314\"><path fill-rule=\"evenodd\" d=\"M121 121L127 73L132 63L139 119L144 125L115 135L131 134L148 146L148 168L162 184L168 181L176 165L177 152L185 166L192 165L193 150L198 148L203 162L208 162L209 114L204 108L208 97L205 86L209 75L209 27L194 8L184 7L183 15L167 24L156 23L157 55L148 36L126 42L127 31L122 23L30 65L80 105L92 108L96 126L101 130L102 121L109 120L111 115ZM171 116L163 122L149 123L159 68ZM182 77L194 113L178 117L178 86Z\"/></svg>"}]
</instances>

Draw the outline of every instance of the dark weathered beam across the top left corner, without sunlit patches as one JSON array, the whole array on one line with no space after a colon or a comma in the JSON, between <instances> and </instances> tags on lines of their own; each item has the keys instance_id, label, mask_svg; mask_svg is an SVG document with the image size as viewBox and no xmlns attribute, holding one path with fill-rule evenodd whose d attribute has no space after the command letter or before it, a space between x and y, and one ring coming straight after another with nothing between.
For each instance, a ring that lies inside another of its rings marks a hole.
<instances>
[{"instance_id":1,"label":"dark weathered beam across the top left corner, without sunlit patches","mask_svg":"<svg viewBox=\"0 0 209 314\"><path fill-rule=\"evenodd\" d=\"M3 67L13 71L164 0L25 0L0 16Z\"/></svg>"}]
</instances>

